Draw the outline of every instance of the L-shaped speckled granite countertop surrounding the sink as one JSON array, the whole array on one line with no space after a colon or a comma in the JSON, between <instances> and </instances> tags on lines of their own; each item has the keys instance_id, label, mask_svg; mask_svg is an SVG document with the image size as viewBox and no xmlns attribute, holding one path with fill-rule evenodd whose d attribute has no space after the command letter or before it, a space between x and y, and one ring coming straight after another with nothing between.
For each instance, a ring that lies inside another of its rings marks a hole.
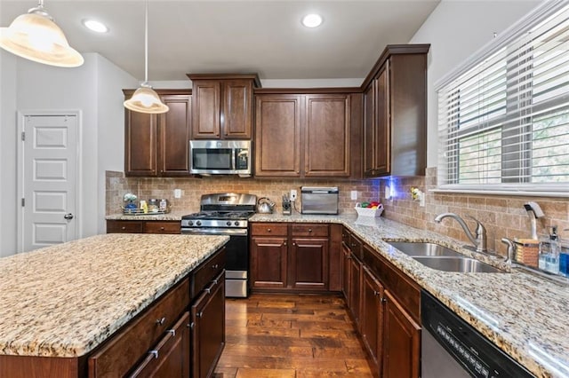
<instances>
[{"instance_id":1,"label":"L-shaped speckled granite countertop surrounding the sink","mask_svg":"<svg viewBox=\"0 0 569 378\"><path fill-rule=\"evenodd\" d=\"M442 272L416 262L386 241L429 241L506 268L499 259L462 248L457 240L384 218L257 214L251 222L344 224L435 295L501 350L539 377L569 377L569 286L518 270L509 273Z\"/></svg>"}]
</instances>

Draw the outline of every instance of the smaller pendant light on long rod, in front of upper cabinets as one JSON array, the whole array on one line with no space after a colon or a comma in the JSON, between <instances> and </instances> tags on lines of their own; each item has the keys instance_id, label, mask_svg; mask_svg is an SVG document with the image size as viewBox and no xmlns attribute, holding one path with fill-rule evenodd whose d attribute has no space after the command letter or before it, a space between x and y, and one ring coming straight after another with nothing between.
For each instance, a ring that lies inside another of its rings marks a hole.
<instances>
[{"instance_id":1,"label":"smaller pendant light on long rod, in front of upper cabinets","mask_svg":"<svg viewBox=\"0 0 569 378\"><path fill-rule=\"evenodd\" d=\"M156 91L148 84L148 0L146 0L146 13L144 24L144 83L134 91L132 98L124 101L124 107L133 112L160 114L166 113L170 108L160 101Z\"/></svg>"}]
</instances>

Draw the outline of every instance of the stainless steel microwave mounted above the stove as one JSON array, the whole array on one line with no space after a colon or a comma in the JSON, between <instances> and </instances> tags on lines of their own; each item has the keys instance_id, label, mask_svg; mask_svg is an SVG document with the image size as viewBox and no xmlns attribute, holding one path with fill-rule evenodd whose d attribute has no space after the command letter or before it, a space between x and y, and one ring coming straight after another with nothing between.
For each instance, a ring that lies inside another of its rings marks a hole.
<instances>
[{"instance_id":1,"label":"stainless steel microwave mounted above the stove","mask_svg":"<svg viewBox=\"0 0 569 378\"><path fill-rule=\"evenodd\" d=\"M251 176L251 140L190 140L189 172Z\"/></svg>"}]
</instances>

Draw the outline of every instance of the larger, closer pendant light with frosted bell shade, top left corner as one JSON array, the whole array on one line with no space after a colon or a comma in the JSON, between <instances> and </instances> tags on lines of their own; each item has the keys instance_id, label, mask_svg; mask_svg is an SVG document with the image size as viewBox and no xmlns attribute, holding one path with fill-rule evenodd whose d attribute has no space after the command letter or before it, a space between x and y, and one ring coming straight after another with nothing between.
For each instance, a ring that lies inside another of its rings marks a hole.
<instances>
[{"instance_id":1,"label":"larger, closer pendant light with frosted bell shade, top left corner","mask_svg":"<svg viewBox=\"0 0 569 378\"><path fill-rule=\"evenodd\" d=\"M79 67L83 56L45 11L44 0L16 17L10 27L0 28L0 47L22 58L56 67Z\"/></svg>"}]
</instances>

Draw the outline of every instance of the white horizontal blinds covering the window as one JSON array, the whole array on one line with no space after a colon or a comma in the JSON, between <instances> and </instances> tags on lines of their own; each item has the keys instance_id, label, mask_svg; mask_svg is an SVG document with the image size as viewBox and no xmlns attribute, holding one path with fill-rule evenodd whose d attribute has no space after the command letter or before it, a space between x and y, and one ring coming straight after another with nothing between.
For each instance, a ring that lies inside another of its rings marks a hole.
<instances>
[{"instance_id":1,"label":"white horizontal blinds covering the window","mask_svg":"<svg viewBox=\"0 0 569 378\"><path fill-rule=\"evenodd\" d=\"M536 14L439 88L439 188L569 191L569 4Z\"/></svg>"}]
</instances>

